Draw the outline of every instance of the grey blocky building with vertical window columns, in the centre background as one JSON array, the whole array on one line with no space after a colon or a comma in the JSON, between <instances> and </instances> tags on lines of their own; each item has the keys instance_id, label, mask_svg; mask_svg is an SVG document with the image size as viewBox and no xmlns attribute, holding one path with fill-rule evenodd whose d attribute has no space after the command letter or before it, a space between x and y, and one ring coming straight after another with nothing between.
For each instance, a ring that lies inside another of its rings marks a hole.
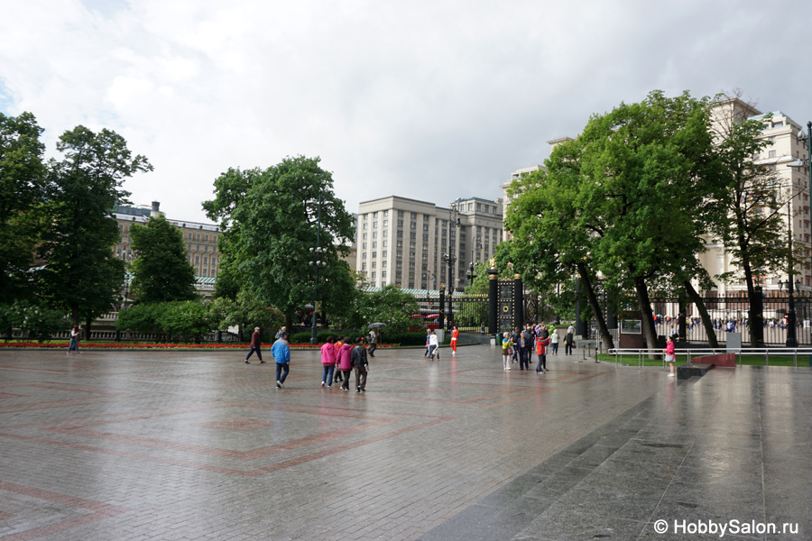
<instances>
[{"instance_id":1,"label":"grey blocky building with vertical window columns, in the centre background","mask_svg":"<svg viewBox=\"0 0 812 541\"><path fill-rule=\"evenodd\" d=\"M471 262L494 255L502 219L502 199L460 198L448 208L396 196L364 201L355 269L377 287L462 289ZM450 268L444 255L455 260Z\"/></svg>"}]
</instances>

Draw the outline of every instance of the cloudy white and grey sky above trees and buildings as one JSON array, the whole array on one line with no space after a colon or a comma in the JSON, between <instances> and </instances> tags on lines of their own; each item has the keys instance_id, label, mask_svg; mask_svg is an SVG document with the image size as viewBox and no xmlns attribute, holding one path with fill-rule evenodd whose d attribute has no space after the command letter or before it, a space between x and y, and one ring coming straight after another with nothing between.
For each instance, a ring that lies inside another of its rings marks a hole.
<instances>
[{"instance_id":1,"label":"cloudy white and grey sky above trees and buildings","mask_svg":"<svg viewBox=\"0 0 812 541\"><path fill-rule=\"evenodd\" d=\"M547 141L652 89L812 120L812 2L0 0L0 111L154 166L136 204L206 220L229 167L320 156L350 212L501 197Z\"/></svg>"}]
</instances>

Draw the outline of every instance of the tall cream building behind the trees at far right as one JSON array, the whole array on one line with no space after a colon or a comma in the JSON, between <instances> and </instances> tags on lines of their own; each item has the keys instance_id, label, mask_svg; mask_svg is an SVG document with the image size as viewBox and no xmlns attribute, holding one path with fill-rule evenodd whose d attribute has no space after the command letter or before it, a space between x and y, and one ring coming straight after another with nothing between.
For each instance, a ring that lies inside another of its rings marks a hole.
<instances>
[{"instance_id":1,"label":"tall cream building behind the trees at far right","mask_svg":"<svg viewBox=\"0 0 812 541\"><path fill-rule=\"evenodd\" d=\"M789 199L789 205L785 206L782 213L787 217L788 223L786 234L775 239L777 243L789 243L789 235L792 241L802 247L806 254L805 261L809 261L810 250L810 218L809 218L809 173L807 167L795 168L788 164L798 158L806 159L807 149L804 143L799 141L798 133L803 133L801 124L798 124L789 116L780 111L770 114L761 114L752 105L744 103L737 98L726 99L715 104L712 111L714 124L717 130L724 133L724 125L731 121L740 122L747 118L761 121L764 124L762 137L767 145L760 154L752 157L755 163L766 165L774 171L774 179L770 182L776 183L783 190L783 199ZM708 238L706 241L707 252L699 255L699 261L703 267L715 276L728 271L736 271L732 264L730 252L724 249L724 245L716 243ZM808 265L804 261L798 261L795 265L795 280L799 282L799 289L802 291L812 290L812 274ZM780 289L779 280L787 280L785 271L778 274L763 272L756 277L761 286L769 295L770 291ZM720 296L736 294L738 291L746 290L743 281L733 284L716 283L716 291Z\"/></svg>"}]
</instances>

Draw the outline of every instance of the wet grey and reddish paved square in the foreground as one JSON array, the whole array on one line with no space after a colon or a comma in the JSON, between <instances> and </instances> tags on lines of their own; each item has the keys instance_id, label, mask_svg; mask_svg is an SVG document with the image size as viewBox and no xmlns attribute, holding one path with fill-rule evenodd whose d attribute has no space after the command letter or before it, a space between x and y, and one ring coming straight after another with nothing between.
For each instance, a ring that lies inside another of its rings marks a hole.
<instances>
[{"instance_id":1,"label":"wet grey and reddish paved square in the foreground","mask_svg":"<svg viewBox=\"0 0 812 541\"><path fill-rule=\"evenodd\" d=\"M0 351L0 539L668 539L656 520L733 518L812 537L808 369L378 353L356 394L322 389L309 351L281 390L233 352Z\"/></svg>"}]
</instances>

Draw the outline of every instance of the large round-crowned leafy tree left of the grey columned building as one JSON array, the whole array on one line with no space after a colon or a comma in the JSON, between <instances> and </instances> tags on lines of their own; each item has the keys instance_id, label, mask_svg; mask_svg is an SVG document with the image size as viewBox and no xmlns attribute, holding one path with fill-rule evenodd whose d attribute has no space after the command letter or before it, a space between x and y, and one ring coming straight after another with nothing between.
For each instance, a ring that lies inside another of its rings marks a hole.
<instances>
[{"instance_id":1,"label":"large round-crowned leafy tree left of the grey columned building","mask_svg":"<svg viewBox=\"0 0 812 541\"><path fill-rule=\"evenodd\" d=\"M355 235L353 217L333 192L332 175L318 158L285 158L268 169L229 169L215 181L215 198L203 204L221 236L221 271L279 308L290 325L294 312L312 300L315 269L309 249L328 267L337 265L337 244ZM321 201L320 228L319 201ZM318 238L317 238L318 235ZM330 281L319 282L329 297Z\"/></svg>"}]
</instances>

